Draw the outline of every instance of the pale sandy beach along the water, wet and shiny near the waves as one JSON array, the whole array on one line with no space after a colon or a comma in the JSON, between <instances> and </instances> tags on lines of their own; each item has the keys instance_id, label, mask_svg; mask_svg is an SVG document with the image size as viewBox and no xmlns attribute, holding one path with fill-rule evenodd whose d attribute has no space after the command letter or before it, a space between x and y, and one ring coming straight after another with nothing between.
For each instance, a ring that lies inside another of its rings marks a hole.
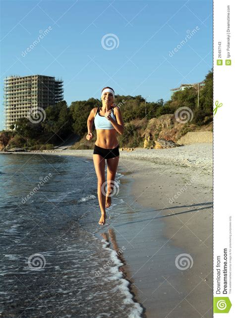
<instances>
[{"instance_id":1,"label":"pale sandy beach along the water, wet and shiny near the waves","mask_svg":"<svg viewBox=\"0 0 235 318\"><path fill-rule=\"evenodd\" d=\"M144 317L213 315L212 150L207 143L120 151L118 196L128 209L115 218L107 209L111 218L99 234L115 250L124 247L121 271ZM89 159L92 153L35 152Z\"/></svg>"}]
</instances>

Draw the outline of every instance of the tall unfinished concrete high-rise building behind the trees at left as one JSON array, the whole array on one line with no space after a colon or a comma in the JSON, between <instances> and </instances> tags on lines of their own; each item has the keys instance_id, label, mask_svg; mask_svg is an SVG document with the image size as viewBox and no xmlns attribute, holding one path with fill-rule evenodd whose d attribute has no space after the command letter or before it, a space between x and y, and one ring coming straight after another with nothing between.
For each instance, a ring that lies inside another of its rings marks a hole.
<instances>
[{"instance_id":1,"label":"tall unfinished concrete high-rise building behind the trees at left","mask_svg":"<svg viewBox=\"0 0 235 318\"><path fill-rule=\"evenodd\" d=\"M9 76L4 79L5 130L18 118L29 117L63 99L63 82L44 75Z\"/></svg>"}]
</instances>

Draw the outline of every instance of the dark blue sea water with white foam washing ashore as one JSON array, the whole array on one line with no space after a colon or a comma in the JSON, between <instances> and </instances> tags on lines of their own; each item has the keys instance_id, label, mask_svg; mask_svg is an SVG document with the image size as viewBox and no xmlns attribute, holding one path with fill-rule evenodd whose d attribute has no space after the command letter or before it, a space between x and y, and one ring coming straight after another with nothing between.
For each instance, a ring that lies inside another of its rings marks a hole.
<instances>
[{"instance_id":1,"label":"dark blue sea water with white foam washing ashore","mask_svg":"<svg viewBox=\"0 0 235 318\"><path fill-rule=\"evenodd\" d=\"M141 316L117 252L97 234L92 160L2 154L0 185L2 317ZM121 203L112 198L108 218Z\"/></svg>"}]
</instances>

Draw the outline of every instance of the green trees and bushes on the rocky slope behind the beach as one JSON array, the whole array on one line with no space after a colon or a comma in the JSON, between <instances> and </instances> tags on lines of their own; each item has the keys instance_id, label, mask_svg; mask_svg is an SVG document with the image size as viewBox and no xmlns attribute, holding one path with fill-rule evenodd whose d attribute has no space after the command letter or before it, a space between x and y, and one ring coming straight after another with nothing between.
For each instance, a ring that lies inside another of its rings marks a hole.
<instances>
[{"instance_id":1,"label":"green trees and bushes on the rocky slope behind the beach","mask_svg":"<svg viewBox=\"0 0 235 318\"><path fill-rule=\"evenodd\" d=\"M176 91L170 100L164 102L146 102L141 95L116 95L115 103L121 109L125 123L122 135L117 134L120 147L151 146L158 138L177 141L187 132L211 131L213 121L213 73L205 77L205 86L199 89L199 107L197 106L197 88ZM49 106L42 114L43 120L20 118L15 122L16 129L0 132L0 148L20 147L28 150L52 149L61 144L67 136L76 134L79 141L73 149L93 148L95 137L87 141L87 118L92 108L101 106L95 98L74 101L70 107L65 100L55 106ZM145 118L146 107L146 118ZM188 107L192 111L190 121L179 123L176 111ZM12 129L14 126L11 127ZM93 130L96 136L95 129Z\"/></svg>"}]
</instances>

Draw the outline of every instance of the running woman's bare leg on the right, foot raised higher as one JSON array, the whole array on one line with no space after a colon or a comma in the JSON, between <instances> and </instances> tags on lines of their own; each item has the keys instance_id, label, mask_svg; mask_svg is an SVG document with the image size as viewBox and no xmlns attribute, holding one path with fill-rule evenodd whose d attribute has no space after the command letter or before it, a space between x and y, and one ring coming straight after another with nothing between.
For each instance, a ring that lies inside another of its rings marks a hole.
<instances>
[{"instance_id":1,"label":"running woman's bare leg on the right, foot raised higher","mask_svg":"<svg viewBox=\"0 0 235 318\"><path fill-rule=\"evenodd\" d=\"M114 186L115 186L115 176L117 172L117 166L118 166L119 156L107 159L107 193L106 193L106 208L109 208L111 206L111 196Z\"/></svg>"}]
</instances>

